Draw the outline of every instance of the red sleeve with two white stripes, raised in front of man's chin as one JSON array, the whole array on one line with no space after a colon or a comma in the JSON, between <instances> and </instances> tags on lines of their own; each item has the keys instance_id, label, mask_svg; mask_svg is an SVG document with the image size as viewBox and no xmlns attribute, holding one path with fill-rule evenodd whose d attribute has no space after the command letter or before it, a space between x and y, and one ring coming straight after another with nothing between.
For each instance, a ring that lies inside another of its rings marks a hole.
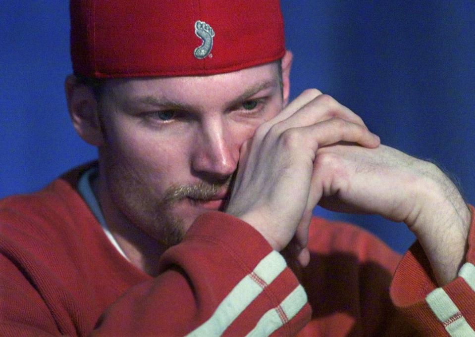
<instances>
[{"instance_id":1,"label":"red sleeve with two white stripes, raised in front of man's chin","mask_svg":"<svg viewBox=\"0 0 475 337\"><path fill-rule=\"evenodd\" d=\"M307 295L283 257L251 226L199 217L160 260L160 275L112 304L94 336L293 336Z\"/></svg>"}]
</instances>

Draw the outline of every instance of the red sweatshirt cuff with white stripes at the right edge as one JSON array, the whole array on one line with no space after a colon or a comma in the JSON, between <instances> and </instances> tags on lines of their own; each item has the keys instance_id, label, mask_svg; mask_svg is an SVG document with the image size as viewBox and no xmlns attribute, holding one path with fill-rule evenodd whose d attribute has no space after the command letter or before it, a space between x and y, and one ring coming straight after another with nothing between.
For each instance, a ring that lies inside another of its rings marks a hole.
<instances>
[{"instance_id":1,"label":"red sweatshirt cuff with white stripes at the right edge","mask_svg":"<svg viewBox=\"0 0 475 337\"><path fill-rule=\"evenodd\" d=\"M422 336L475 336L475 215L468 252L458 277L438 288L421 245L416 242L404 255L391 284L397 308Z\"/></svg>"}]
</instances>

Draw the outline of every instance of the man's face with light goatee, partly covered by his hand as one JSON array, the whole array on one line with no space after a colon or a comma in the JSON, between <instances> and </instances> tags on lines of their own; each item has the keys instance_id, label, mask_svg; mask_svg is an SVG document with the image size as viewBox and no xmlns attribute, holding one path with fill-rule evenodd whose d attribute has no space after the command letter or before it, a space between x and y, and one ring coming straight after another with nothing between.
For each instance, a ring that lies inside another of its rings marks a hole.
<instances>
[{"instance_id":1,"label":"man's face with light goatee, partly covered by his hand","mask_svg":"<svg viewBox=\"0 0 475 337\"><path fill-rule=\"evenodd\" d=\"M116 216L168 245L222 210L241 145L282 109L278 66L108 81L100 167Z\"/></svg>"}]
</instances>

